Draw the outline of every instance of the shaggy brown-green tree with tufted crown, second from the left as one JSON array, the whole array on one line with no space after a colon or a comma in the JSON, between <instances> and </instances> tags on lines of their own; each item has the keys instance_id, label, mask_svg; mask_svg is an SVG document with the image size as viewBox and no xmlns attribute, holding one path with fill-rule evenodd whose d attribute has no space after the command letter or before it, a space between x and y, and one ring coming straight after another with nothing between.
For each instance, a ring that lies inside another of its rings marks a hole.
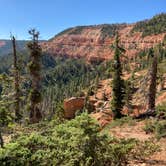
<instances>
[{"instance_id":1,"label":"shaggy brown-green tree with tufted crown, second from the left","mask_svg":"<svg viewBox=\"0 0 166 166\"><path fill-rule=\"evenodd\" d=\"M38 42L39 32L36 32L35 29L29 31L29 34L32 35L32 41L28 43L28 48L30 50L30 62L28 64L29 72L31 76L31 91L29 94L29 110L30 123L37 123L41 120L42 114L39 109L39 104L41 102L41 85L40 85L40 70L41 70L41 47Z\"/></svg>"}]
</instances>

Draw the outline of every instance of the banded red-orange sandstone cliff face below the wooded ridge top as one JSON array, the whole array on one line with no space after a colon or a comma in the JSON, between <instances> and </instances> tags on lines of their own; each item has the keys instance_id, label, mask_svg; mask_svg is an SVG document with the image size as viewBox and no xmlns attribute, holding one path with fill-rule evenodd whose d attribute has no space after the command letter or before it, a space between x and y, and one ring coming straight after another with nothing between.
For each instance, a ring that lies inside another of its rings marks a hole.
<instances>
[{"instance_id":1,"label":"banded red-orange sandstone cliff face below the wooded ridge top","mask_svg":"<svg viewBox=\"0 0 166 166\"><path fill-rule=\"evenodd\" d=\"M55 36L52 40L41 44L43 51L54 56L82 57L89 61L112 59L113 51L110 45L114 42L114 35L104 36L103 26L86 26L80 31L78 27ZM132 57L139 51L153 47L161 42L166 33L142 37L141 32L131 33L134 24L120 26L121 44L127 50L126 55ZM73 33L72 31L78 31ZM104 36L104 37L103 37Z\"/></svg>"}]
</instances>

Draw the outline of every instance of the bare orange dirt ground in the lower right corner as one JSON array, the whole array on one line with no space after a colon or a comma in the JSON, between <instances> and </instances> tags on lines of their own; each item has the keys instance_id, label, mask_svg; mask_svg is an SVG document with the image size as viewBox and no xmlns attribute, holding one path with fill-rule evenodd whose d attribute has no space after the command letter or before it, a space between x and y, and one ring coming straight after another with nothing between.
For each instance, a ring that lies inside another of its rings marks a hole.
<instances>
[{"instance_id":1,"label":"bare orange dirt ground in the lower right corner","mask_svg":"<svg viewBox=\"0 0 166 166\"><path fill-rule=\"evenodd\" d=\"M146 134L143 130L144 121L136 122L134 126L122 126L110 129L111 134L118 138L136 138L145 141L154 138L152 134ZM129 166L166 166L166 138L160 139L157 144L160 146L160 152L156 152L145 161L132 161Z\"/></svg>"}]
</instances>

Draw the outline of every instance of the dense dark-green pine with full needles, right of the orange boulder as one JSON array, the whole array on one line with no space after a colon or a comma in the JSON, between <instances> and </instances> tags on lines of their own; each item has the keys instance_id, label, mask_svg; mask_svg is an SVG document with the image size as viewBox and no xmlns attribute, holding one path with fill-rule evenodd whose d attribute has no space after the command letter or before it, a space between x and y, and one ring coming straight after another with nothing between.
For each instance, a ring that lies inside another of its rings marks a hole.
<instances>
[{"instance_id":1,"label":"dense dark-green pine with full needles, right of the orange boulder","mask_svg":"<svg viewBox=\"0 0 166 166\"><path fill-rule=\"evenodd\" d=\"M116 36L115 44L114 44L114 74L112 81L112 101L111 101L111 109L114 113L114 118L122 117L122 109L124 106L124 80L122 77L122 67L120 62L120 56L125 51L123 48L119 46L119 37Z\"/></svg>"}]
</instances>

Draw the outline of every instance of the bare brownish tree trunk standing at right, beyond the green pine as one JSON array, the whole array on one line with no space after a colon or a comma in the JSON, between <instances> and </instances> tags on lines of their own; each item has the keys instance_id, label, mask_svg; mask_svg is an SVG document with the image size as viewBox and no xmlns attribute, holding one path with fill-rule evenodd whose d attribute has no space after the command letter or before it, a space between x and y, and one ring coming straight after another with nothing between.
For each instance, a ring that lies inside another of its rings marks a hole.
<instances>
[{"instance_id":1,"label":"bare brownish tree trunk standing at right, beyond the green pine","mask_svg":"<svg viewBox=\"0 0 166 166\"><path fill-rule=\"evenodd\" d=\"M156 97L156 80L157 80L157 53L158 48L155 49L155 52L151 52L150 56L153 57L151 71L150 71L150 86L149 86L149 95L148 95L148 110L155 110L155 97Z\"/></svg>"}]
</instances>

